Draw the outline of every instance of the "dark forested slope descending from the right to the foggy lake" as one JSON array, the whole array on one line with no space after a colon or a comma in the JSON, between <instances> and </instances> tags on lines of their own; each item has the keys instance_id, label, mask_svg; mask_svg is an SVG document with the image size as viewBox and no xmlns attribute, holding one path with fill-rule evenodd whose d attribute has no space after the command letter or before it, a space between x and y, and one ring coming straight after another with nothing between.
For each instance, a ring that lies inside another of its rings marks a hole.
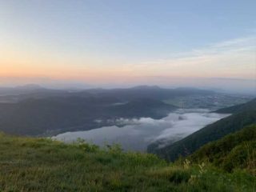
<instances>
[{"instance_id":1,"label":"dark forested slope descending from the right to the foggy lake","mask_svg":"<svg viewBox=\"0 0 256 192\"><path fill-rule=\"evenodd\" d=\"M148 147L148 151L150 153L158 154L158 156L170 161L174 161L179 156L192 154L195 150L198 150L208 142L218 140L227 134L241 130L244 126L256 123L255 103L256 100L254 99L249 102L249 104L242 105L242 107L239 105L237 107L239 110L236 110L236 113L227 118L222 118L218 122L214 122L178 142L174 142L160 149L158 148L157 143L153 143ZM235 107L236 106L234 106L233 109Z\"/></svg>"}]
</instances>

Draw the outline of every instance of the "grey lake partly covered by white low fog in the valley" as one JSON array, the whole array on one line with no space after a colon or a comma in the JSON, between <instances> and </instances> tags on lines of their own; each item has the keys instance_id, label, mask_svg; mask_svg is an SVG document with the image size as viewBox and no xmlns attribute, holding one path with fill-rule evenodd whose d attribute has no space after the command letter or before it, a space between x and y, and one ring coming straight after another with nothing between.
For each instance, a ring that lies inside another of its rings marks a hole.
<instances>
[{"instance_id":1,"label":"grey lake partly covered by white low fog in the valley","mask_svg":"<svg viewBox=\"0 0 256 192\"><path fill-rule=\"evenodd\" d=\"M66 132L58 134L54 139L74 142L83 138L86 142L98 146L119 143L124 150L146 151L151 142L174 142L192 134L202 127L225 118L229 114L210 113L209 110L176 110L166 118L120 119L129 123L127 126L104 126L86 131Z\"/></svg>"}]
</instances>

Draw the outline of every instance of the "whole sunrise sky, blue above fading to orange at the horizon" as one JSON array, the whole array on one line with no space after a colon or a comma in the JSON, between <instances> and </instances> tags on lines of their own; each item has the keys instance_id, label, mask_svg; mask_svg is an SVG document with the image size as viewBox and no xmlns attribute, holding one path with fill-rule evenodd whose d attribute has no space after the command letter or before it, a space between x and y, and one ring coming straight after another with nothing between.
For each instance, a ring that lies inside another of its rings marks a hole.
<instances>
[{"instance_id":1,"label":"whole sunrise sky, blue above fading to orange at the horizon","mask_svg":"<svg viewBox=\"0 0 256 192\"><path fill-rule=\"evenodd\" d=\"M255 7L254 0L0 0L0 84L222 79L253 89Z\"/></svg>"}]
</instances>

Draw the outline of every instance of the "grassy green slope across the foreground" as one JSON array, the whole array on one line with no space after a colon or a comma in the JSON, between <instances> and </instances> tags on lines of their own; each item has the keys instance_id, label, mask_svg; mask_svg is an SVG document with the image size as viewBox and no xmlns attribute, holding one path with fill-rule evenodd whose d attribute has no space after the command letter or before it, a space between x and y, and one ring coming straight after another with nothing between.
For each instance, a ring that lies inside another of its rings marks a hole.
<instances>
[{"instance_id":1,"label":"grassy green slope across the foreground","mask_svg":"<svg viewBox=\"0 0 256 192\"><path fill-rule=\"evenodd\" d=\"M0 135L0 191L254 191L256 178L153 154Z\"/></svg>"}]
</instances>

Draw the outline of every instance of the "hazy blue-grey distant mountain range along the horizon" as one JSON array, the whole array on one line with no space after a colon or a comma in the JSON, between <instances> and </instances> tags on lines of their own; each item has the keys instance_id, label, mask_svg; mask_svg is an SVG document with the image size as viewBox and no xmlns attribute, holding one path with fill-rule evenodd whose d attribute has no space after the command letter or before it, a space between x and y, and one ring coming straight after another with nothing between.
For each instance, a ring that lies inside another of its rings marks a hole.
<instances>
[{"instance_id":1,"label":"hazy blue-grey distant mountain range along the horizon","mask_svg":"<svg viewBox=\"0 0 256 192\"><path fill-rule=\"evenodd\" d=\"M164 100L187 95L207 95L214 91L191 88L163 89L158 86L135 86L126 89L90 89L90 90L51 90L37 85L0 87L0 102L20 102L27 98L49 97L114 97L123 102L136 98L153 98Z\"/></svg>"}]
</instances>

